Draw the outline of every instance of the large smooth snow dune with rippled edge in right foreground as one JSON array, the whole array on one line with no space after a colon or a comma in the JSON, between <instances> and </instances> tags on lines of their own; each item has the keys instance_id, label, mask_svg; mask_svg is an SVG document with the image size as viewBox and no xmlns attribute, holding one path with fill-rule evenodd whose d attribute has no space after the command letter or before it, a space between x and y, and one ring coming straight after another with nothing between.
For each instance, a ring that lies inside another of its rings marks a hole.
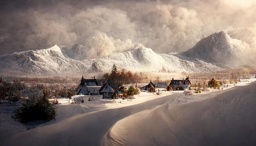
<instances>
[{"instance_id":1,"label":"large smooth snow dune with rippled edge in right foreground","mask_svg":"<svg viewBox=\"0 0 256 146\"><path fill-rule=\"evenodd\" d=\"M256 145L256 82L208 94L187 104L169 102L118 121L103 145Z\"/></svg>"}]
</instances>

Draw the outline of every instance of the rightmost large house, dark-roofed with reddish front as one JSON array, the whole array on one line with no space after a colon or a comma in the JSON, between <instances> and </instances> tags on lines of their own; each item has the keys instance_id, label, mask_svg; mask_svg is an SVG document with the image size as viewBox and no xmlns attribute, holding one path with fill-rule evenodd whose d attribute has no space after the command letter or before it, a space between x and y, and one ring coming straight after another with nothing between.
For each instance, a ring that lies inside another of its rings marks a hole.
<instances>
[{"instance_id":1,"label":"rightmost large house, dark-roofed with reddish front","mask_svg":"<svg viewBox=\"0 0 256 146\"><path fill-rule=\"evenodd\" d=\"M173 90L186 90L191 86L191 82L189 81L189 76L185 80L171 80L169 86ZM171 89L170 88L170 89Z\"/></svg>"}]
</instances>

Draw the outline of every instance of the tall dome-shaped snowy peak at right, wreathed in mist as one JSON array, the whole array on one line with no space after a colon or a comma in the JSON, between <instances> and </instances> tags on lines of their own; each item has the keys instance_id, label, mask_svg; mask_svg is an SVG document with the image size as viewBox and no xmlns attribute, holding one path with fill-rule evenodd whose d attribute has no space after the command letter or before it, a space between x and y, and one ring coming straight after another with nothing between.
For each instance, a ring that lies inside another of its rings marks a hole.
<instances>
[{"instance_id":1,"label":"tall dome-shaped snowy peak at right, wreathed in mist","mask_svg":"<svg viewBox=\"0 0 256 146\"><path fill-rule=\"evenodd\" d=\"M216 32L200 40L188 51L182 52L186 58L198 58L205 62L217 64L234 64L245 54L249 45L241 40L231 39L224 32Z\"/></svg>"}]
</instances>

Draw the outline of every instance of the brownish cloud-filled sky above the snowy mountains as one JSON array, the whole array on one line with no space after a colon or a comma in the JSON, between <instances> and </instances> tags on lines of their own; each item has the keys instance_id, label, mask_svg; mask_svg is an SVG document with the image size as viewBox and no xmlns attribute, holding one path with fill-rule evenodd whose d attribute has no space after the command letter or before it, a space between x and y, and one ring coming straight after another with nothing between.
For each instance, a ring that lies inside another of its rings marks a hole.
<instances>
[{"instance_id":1,"label":"brownish cloud-filled sky above the snowy mountains","mask_svg":"<svg viewBox=\"0 0 256 146\"><path fill-rule=\"evenodd\" d=\"M182 52L225 30L256 46L255 0L0 0L0 55L81 44L99 55Z\"/></svg>"}]
</instances>

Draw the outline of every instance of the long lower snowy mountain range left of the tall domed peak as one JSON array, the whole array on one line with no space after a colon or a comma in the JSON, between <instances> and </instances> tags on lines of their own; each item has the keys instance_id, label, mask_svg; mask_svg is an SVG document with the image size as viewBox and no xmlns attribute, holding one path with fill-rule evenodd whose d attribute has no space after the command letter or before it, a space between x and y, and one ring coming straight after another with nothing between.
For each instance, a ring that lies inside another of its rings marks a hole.
<instances>
[{"instance_id":1,"label":"long lower snowy mountain range left of the tall domed peak","mask_svg":"<svg viewBox=\"0 0 256 146\"><path fill-rule=\"evenodd\" d=\"M80 47L80 48L79 48ZM201 60L187 61L174 55L157 54L152 49L136 43L135 48L123 53L114 53L97 59L81 60L88 55L81 46L23 51L0 56L0 71L24 73L92 73L109 71L113 64L120 69L162 72L211 72L220 68ZM82 48L82 49L81 49ZM84 52L81 53L81 50ZM80 53L79 53L80 51ZM76 56L78 54L78 57ZM82 54L79 56L79 54Z\"/></svg>"}]
</instances>

